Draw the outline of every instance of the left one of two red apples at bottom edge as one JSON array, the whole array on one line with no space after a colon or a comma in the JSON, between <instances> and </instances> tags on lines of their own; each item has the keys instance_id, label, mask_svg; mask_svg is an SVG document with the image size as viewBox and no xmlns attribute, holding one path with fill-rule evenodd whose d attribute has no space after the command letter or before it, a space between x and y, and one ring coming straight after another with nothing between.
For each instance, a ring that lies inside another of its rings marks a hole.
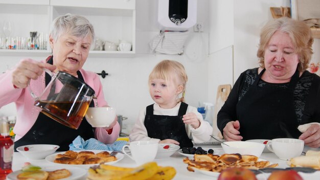
<instances>
[{"instance_id":1,"label":"left one of two red apples at bottom edge","mask_svg":"<svg viewBox=\"0 0 320 180\"><path fill-rule=\"evenodd\" d=\"M218 180L257 180L257 177L248 169L227 168L220 173Z\"/></svg>"}]
</instances>

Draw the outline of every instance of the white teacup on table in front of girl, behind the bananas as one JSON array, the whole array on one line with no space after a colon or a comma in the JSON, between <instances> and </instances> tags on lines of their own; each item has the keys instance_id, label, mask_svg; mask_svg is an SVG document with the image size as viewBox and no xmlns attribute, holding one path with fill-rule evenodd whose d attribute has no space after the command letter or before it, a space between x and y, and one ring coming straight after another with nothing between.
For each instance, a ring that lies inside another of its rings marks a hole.
<instances>
[{"instance_id":1,"label":"white teacup on table in front of girl, behind the bananas","mask_svg":"<svg viewBox=\"0 0 320 180\"><path fill-rule=\"evenodd\" d=\"M130 149L132 156L125 152L125 147ZM124 145L122 147L122 152L129 156L129 158L135 161L138 165L153 161L157 151L158 142L155 141L133 141L130 142L129 145Z\"/></svg>"}]
</instances>

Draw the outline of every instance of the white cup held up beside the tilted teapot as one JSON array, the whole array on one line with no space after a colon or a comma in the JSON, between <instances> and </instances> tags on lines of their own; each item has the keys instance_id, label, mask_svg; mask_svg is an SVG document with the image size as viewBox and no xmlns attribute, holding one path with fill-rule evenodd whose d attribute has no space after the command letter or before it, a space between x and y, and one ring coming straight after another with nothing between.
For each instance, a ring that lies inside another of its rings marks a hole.
<instances>
[{"instance_id":1,"label":"white cup held up beside the tilted teapot","mask_svg":"<svg viewBox=\"0 0 320 180\"><path fill-rule=\"evenodd\" d=\"M109 127L116 118L113 107L89 107L85 119L92 127Z\"/></svg>"}]
</instances>

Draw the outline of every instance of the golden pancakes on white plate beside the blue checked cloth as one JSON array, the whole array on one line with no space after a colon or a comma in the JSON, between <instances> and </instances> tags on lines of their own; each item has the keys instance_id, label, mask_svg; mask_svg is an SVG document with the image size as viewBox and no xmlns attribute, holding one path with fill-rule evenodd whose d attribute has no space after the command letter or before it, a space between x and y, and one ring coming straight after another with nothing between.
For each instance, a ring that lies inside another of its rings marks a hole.
<instances>
[{"instance_id":1,"label":"golden pancakes on white plate beside the blue checked cloth","mask_svg":"<svg viewBox=\"0 0 320 180\"><path fill-rule=\"evenodd\" d=\"M110 156L108 151L94 153L92 151L75 152L72 150L66 151L64 154L57 154L54 163L60 164L99 164L111 161L116 161L115 156Z\"/></svg>"}]
</instances>

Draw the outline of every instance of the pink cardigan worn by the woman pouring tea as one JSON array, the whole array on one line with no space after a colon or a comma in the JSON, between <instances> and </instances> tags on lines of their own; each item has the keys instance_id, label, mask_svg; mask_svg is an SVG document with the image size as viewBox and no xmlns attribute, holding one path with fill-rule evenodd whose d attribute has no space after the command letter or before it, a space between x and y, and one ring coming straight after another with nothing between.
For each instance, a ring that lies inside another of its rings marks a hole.
<instances>
[{"instance_id":1,"label":"pink cardigan worn by the woman pouring tea","mask_svg":"<svg viewBox=\"0 0 320 180\"><path fill-rule=\"evenodd\" d=\"M41 109L33 105L34 99L30 95L29 88L13 87L12 72L13 70L8 70L6 73L0 75L0 84L2 86L0 88L0 108L11 102L15 102L17 119L13 128L13 132L16 134L15 141L17 141L30 130L35 123ZM107 102L104 99L102 84L99 76L96 73L84 71L83 69L81 69L80 72L84 81L96 92L97 99L95 100L95 105L98 104L100 107L107 105ZM44 90L44 77L45 73L43 72L37 80L30 81L30 87L32 87L33 93L37 96L39 96ZM117 123L113 127L111 134L108 134L105 128L95 128L95 137L97 140L105 144L112 144L119 137L119 132L120 125Z\"/></svg>"}]
</instances>

